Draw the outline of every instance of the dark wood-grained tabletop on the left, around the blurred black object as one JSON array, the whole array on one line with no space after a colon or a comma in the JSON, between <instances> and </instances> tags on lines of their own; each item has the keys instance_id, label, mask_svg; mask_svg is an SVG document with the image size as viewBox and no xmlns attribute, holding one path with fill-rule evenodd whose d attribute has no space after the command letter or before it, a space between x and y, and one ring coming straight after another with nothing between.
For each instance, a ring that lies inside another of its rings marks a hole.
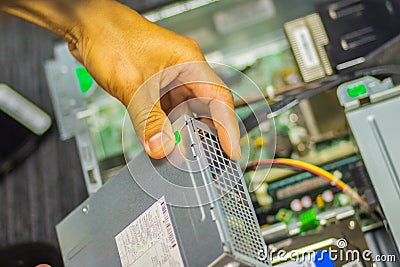
<instances>
[{"instance_id":1,"label":"dark wood-grained tabletop on the left, around the blurred black object","mask_svg":"<svg viewBox=\"0 0 400 267\"><path fill-rule=\"evenodd\" d=\"M0 83L53 116L43 64L60 40L20 19L1 20ZM28 241L56 245L55 225L86 197L75 142L60 141L54 122L40 147L0 180L0 247Z\"/></svg>"}]
</instances>

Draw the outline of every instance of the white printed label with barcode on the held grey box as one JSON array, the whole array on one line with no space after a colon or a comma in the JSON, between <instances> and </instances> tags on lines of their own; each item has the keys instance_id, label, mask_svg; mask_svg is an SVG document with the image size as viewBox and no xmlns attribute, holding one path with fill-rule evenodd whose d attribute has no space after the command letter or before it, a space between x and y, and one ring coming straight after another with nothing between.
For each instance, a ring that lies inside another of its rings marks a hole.
<instances>
[{"instance_id":1,"label":"white printed label with barcode on the held grey box","mask_svg":"<svg viewBox=\"0 0 400 267\"><path fill-rule=\"evenodd\" d=\"M184 266L162 197L116 237L122 267Z\"/></svg>"}]
</instances>

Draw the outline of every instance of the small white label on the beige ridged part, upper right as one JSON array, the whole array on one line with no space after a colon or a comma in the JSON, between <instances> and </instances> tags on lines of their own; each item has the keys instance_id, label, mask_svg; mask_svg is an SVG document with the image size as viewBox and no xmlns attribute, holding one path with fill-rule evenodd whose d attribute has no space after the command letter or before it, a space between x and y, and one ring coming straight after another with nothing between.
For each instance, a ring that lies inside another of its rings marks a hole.
<instances>
[{"instance_id":1,"label":"small white label on the beige ridged part, upper right","mask_svg":"<svg viewBox=\"0 0 400 267\"><path fill-rule=\"evenodd\" d=\"M298 44L304 65L307 68L318 66L320 63L309 30L306 27L301 27L296 29L293 35Z\"/></svg>"}]
</instances>

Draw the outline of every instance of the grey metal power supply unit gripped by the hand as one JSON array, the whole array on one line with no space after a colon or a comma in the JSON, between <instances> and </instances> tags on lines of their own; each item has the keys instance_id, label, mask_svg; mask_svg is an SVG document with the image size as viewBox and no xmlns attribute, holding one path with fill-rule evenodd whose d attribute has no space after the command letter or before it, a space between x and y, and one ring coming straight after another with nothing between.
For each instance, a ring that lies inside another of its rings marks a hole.
<instances>
[{"instance_id":1,"label":"grey metal power supply unit gripped by the hand","mask_svg":"<svg viewBox=\"0 0 400 267\"><path fill-rule=\"evenodd\" d=\"M161 160L144 152L57 225L71 266L270 266L239 165L183 116Z\"/></svg>"}]
</instances>

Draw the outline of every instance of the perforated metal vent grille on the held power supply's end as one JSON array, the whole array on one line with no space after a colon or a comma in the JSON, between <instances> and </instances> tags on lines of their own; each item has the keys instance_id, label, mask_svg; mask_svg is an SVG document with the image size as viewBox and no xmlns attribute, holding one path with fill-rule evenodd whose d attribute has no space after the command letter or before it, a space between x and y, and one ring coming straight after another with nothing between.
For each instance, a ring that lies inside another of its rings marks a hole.
<instances>
[{"instance_id":1,"label":"perforated metal vent grille on the held power supply's end","mask_svg":"<svg viewBox=\"0 0 400 267\"><path fill-rule=\"evenodd\" d=\"M197 132L220 196L233 252L261 262L260 251L264 251L265 243L260 235L260 226L253 207L249 204L250 199L242 182L241 171L223 152L217 137L203 129L197 128Z\"/></svg>"}]
</instances>

